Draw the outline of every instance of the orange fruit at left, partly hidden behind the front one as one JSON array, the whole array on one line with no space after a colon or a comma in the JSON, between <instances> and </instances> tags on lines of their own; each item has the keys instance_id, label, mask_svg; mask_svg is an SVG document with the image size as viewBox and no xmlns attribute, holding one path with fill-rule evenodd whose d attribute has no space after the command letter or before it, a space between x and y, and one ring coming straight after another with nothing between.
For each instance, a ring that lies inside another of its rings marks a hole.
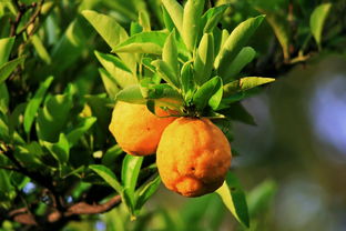
<instances>
[{"instance_id":1,"label":"orange fruit at left, partly hidden behind the front one","mask_svg":"<svg viewBox=\"0 0 346 231\"><path fill-rule=\"evenodd\" d=\"M118 144L129 154L147 155L156 152L163 130L176 118L161 108L151 113L144 104L119 101L109 129Z\"/></svg>"}]
</instances>

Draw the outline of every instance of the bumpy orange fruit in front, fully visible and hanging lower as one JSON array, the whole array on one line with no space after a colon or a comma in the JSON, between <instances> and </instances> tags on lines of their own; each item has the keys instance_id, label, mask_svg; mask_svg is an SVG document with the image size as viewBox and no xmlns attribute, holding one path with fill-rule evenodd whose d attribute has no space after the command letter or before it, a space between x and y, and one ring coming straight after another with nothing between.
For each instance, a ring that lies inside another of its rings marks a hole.
<instances>
[{"instance_id":1,"label":"bumpy orange fruit in front, fully visible and hanging lower","mask_svg":"<svg viewBox=\"0 0 346 231\"><path fill-rule=\"evenodd\" d=\"M162 133L156 164L165 187L185 197L215 191L231 165L231 145L208 119L179 118Z\"/></svg>"}]
</instances>

